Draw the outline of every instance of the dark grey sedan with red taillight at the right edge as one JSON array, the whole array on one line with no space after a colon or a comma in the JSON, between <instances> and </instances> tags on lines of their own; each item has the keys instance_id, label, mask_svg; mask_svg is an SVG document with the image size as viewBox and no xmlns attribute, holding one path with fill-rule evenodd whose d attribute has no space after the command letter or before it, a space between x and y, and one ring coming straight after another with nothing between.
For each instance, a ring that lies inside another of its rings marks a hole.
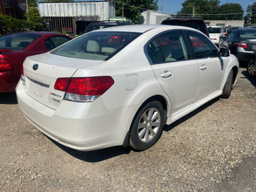
<instances>
[{"instance_id":1,"label":"dark grey sedan with red taillight at the right edge","mask_svg":"<svg viewBox=\"0 0 256 192\"><path fill-rule=\"evenodd\" d=\"M249 62L256 50L256 29L233 29L222 41L220 47L228 47L239 61Z\"/></svg>"}]
</instances>

